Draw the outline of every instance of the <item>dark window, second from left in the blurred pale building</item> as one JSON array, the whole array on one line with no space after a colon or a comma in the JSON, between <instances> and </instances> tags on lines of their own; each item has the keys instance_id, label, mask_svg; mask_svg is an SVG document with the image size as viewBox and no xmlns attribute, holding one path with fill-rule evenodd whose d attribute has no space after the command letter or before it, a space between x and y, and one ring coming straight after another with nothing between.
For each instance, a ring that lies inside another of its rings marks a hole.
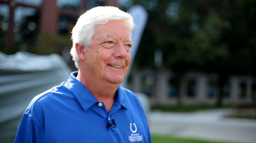
<instances>
[{"instance_id":1,"label":"dark window, second from left in the blurred pale building","mask_svg":"<svg viewBox=\"0 0 256 143\"><path fill-rule=\"evenodd\" d=\"M179 82L177 78L171 78L169 80L169 86L167 91L169 97L177 97L179 95Z\"/></svg>"}]
</instances>

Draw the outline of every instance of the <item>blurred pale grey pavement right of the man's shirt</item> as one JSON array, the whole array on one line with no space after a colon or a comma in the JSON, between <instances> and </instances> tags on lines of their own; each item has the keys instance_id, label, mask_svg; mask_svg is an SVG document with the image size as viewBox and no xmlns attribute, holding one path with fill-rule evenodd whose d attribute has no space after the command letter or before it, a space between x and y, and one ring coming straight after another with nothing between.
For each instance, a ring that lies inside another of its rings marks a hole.
<instances>
[{"instance_id":1,"label":"blurred pale grey pavement right of the man's shirt","mask_svg":"<svg viewBox=\"0 0 256 143\"><path fill-rule=\"evenodd\" d=\"M223 118L230 109L192 113L153 111L149 115L152 134L215 141L256 143L256 120Z\"/></svg>"}]
</instances>

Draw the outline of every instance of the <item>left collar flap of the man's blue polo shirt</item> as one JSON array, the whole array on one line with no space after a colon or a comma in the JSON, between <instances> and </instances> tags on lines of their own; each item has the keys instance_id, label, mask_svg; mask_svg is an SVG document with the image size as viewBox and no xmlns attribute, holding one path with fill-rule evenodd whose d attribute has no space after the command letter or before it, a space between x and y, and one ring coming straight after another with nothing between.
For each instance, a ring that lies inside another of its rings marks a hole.
<instances>
[{"instance_id":1,"label":"left collar flap of the man's blue polo shirt","mask_svg":"<svg viewBox=\"0 0 256 143\"><path fill-rule=\"evenodd\" d=\"M68 87L79 101L84 110L88 110L98 100L91 94L91 92L76 78L78 71L71 73L68 78Z\"/></svg>"}]
</instances>

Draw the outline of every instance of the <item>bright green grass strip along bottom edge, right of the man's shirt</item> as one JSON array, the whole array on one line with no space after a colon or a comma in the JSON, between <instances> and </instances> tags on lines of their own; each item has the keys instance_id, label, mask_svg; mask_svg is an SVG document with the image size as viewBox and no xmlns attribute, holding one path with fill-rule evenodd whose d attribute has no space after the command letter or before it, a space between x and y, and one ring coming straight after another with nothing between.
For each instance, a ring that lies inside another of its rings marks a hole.
<instances>
[{"instance_id":1,"label":"bright green grass strip along bottom edge, right of the man's shirt","mask_svg":"<svg viewBox=\"0 0 256 143\"><path fill-rule=\"evenodd\" d=\"M152 135L152 142L153 143L228 143L228 142L180 138L180 137L174 137L171 135Z\"/></svg>"}]
</instances>

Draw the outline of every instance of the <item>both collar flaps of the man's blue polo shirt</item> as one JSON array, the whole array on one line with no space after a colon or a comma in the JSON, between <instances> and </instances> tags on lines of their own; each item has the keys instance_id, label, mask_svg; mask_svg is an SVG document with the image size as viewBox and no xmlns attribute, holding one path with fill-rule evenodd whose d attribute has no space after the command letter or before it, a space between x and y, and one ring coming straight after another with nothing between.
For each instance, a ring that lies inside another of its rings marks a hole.
<instances>
[{"instance_id":1,"label":"both collar flaps of the man's blue polo shirt","mask_svg":"<svg viewBox=\"0 0 256 143\"><path fill-rule=\"evenodd\" d=\"M68 78L68 87L79 101L84 110L88 110L92 105L98 102L98 100L92 95L92 93L76 78L78 71L71 73ZM127 95L125 89L121 86L116 91L115 101L122 107L127 109Z\"/></svg>"}]
</instances>

